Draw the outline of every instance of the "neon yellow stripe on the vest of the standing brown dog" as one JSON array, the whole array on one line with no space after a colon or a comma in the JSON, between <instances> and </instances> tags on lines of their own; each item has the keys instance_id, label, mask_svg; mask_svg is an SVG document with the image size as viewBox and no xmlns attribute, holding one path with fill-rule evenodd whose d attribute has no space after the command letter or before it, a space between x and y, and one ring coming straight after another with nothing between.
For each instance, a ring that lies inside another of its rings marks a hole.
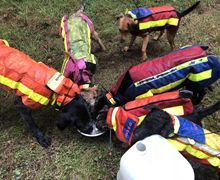
<instances>
[{"instance_id":1,"label":"neon yellow stripe on the vest of the standing brown dog","mask_svg":"<svg viewBox=\"0 0 220 180\"><path fill-rule=\"evenodd\" d=\"M178 18L169 18L169 19L162 19L157 21L149 21L149 22L143 22L139 24L139 29L148 29L153 27L162 27L166 24L172 25L172 26L178 26L179 19Z\"/></svg>"}]
</instances>

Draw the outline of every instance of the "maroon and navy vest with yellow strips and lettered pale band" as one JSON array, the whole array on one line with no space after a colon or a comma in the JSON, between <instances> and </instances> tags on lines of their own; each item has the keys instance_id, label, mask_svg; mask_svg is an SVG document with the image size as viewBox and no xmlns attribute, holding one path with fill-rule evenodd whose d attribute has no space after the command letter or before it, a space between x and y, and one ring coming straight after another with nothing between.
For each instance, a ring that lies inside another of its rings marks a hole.
<instances>
[{"instance_id":1,"label":"maroon and navy vest with yellow strips and lettered pale band","mask_svg":"<svg viewBox=\"0 0 220 180\"><path fill-rule=\"evenodd\" d=\"M220 78L219 59L194 45L129 68L106 95L111 104L163 93L183 83L197 90ZM114 98L113 98L114 97Z\"/></svg>"}]
</instances>

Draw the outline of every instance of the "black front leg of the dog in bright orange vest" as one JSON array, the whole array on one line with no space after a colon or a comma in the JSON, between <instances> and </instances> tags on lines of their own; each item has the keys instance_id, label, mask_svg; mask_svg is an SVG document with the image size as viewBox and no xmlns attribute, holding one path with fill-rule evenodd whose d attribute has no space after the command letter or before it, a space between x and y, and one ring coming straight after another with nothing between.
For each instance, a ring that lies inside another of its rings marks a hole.
<instances>
[{"instance_id":1,"label":"black front leg of the dog in bright orange vest","mask_svg":"<svg viewBox=\"0 0 220 180\"><path fill-rule=\"evenodd\" d=\"M32 110L23 104L20 97L15 101L15 105L22 119L27 123L30 131L33 133L39 144L45 148L50 146L50 141L45 137L45 135L35 124L31 114Z\"/></svg>"}]
</instances>

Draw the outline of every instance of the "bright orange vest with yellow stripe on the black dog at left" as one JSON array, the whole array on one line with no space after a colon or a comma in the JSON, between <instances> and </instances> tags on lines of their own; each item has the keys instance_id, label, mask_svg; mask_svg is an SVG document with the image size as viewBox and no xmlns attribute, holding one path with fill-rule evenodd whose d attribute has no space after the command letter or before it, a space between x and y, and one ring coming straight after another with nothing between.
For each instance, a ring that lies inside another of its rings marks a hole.
<instances>
[{"instance_id":1,"label":"bright orange vest with yellow stripe on the black dog at left","mask_svg":"<svg viewBox=\"0 0 220 180\"><path fill-rule=\"evenodd\" d=\"M31 109L65 105L79 92L77 84L0 40L0 85L21 96Z\"/></svg>"}]
</instances>

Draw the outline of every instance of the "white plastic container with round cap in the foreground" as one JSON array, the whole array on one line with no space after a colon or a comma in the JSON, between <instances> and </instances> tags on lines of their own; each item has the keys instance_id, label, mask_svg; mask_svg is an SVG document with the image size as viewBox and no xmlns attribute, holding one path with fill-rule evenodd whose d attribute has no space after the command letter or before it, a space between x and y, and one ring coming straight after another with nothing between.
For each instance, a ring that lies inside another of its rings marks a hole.
<instances>
[{"instance_id":1,"label":"white plastic container with round cap in the foreground","mask_svg":"<svg viewBox=\"0 0 220 180\"><path fill-rule=\"evenodd\" d=\"M122 156L117 180L194 180L194 171L165 138L153 135Z\"/></svg>"}]
</instances>

